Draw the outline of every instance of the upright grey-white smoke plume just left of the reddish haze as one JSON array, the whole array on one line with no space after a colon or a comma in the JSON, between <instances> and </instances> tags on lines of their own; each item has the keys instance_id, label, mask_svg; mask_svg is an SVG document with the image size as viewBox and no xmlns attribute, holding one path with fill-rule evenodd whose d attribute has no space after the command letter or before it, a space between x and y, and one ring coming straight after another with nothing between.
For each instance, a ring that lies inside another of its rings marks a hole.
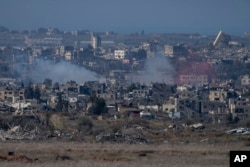
<instances>
[{"instance_id":1,"label":"upright grey-white smoke plume just left of the reddish haze","mask_svg":"<svg viewBox=\"0 0 250 167\"><path fill-rule=\"evenodd\" d=\"M174 84L174 68L166 56L161 53L155 54L145 62L142 72L132 75L132 82L151 84L153 82Z\"/></svg>"}]
</instances>

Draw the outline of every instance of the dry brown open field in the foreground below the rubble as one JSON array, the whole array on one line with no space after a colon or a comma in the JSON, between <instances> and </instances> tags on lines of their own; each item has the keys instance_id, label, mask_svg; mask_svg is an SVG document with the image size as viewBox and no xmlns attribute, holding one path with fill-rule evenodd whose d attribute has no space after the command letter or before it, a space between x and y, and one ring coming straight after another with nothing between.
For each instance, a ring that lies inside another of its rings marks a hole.
<instances>
[{"instance_id":1,"label":"dry brown open field in the foreground below the rubble","mask_svg":"<svg viewBox=\"0 0 250 167\"><path fill-rule=\"evenodd\" d=\"M101 144L67 141L0 143L0 166L229 166L230 150L250 150L245 142Z\"/></svg>"}]
</instances>

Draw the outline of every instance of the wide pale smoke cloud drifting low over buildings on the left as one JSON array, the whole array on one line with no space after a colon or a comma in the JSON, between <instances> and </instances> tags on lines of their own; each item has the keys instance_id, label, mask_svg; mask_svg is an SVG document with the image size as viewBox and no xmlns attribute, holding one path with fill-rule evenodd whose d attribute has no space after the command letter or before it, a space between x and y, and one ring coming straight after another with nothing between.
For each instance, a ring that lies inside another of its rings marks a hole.
<instances>
[{"instance_id":1,"label":"wide pale smoke cloud drifting low over buildings on the left","mask_svg":"<svg viewBox=\"0 0 250 167\"><path fill-rule=\"evenodd\" d=\"M54 63L49 60L37 59L30 74L32 82L35 83L41 83L47 78L58 83L66 83L71 80L77 83L98 80L96 73L66 61Z\"/></svg>"}]
</instances>

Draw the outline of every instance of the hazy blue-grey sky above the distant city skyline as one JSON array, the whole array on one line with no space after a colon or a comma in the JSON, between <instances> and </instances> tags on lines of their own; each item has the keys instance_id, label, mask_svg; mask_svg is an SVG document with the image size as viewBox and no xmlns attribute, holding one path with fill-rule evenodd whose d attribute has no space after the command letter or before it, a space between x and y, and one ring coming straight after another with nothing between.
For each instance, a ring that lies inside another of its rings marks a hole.
<instances>
[{"instance_id":1,"label":"hazy blue-grey sky above the distant city skyline","mask_svg":"<svg viewBox=\"0 0 250 167\"><path fill-rule=\"evenodd\" d=\"M0 0L0 25L241 35L250 31L250 0Z\"/></svg>"}]
</instances>

